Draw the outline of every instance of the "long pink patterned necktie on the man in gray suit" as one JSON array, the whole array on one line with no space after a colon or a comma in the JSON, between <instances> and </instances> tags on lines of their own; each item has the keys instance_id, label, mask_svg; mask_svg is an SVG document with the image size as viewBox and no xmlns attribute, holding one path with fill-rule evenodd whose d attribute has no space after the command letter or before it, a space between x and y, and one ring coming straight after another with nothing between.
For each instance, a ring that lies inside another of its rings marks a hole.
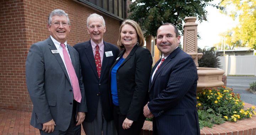
<instances>
[{"instance_id":1,"label":"long pink patterned necktie on the man in gray suit","mask_svg":"<svg viewBox=\"0 0 256 135\"><path fill-rule=\"evenodd\" d=\"M69 58L68 52L66 51L66 48L65 48L66 45L63 43L60 43L60 45L62 46L62 51L63 51L66 68L68 70L70 81L72 84L74 99L80 103L82 96L81 96L81 91L80 91L80 87L79 87L79 83L78 83L78 78L75 74L75 70L74 70L74 67Z\"/></svg>"}]
</instances>

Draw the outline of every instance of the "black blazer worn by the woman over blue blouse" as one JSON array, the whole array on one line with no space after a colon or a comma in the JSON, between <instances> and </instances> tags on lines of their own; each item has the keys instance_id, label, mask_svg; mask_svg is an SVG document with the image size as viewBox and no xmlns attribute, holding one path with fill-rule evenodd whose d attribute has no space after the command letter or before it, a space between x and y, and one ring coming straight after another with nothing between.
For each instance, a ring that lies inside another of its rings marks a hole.
<instances>
[{"instance_id":1,"label":"black blazer worn by the woman over blue blouse","mask_svg":"<svg viewBox=\"0 0 256 135\"><path fill-rule=\"evenodd\" d=\"M116 65L125 50L120 52ZM117 93L120 112L130 120L137 121L148 95L149 77L152 66L152 56L148 49L135 45L130 54L119 66L116 74ZM111 85L110 85L111 86Z\"/></svg>"}]
</instances>

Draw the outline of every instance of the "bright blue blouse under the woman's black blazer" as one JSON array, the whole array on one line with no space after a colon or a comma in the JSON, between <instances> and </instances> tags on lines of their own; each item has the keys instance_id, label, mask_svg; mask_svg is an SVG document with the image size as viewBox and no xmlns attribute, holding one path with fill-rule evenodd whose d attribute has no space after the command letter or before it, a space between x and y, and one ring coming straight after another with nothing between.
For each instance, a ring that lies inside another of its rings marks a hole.
<instances>
[{"instance_id":1,"label":"bright blue blouse under the woman's black blazer","mask_svg":"<svg viewBox=\"0 0 256 135\"><path fill-rule=\"evenodd\" d=\"M119 106L118 97L117 97L116 72L117 72L119 66L123 63L124 60L125 59L123 57L121 59L119 59L117 64L111 70L111 94L112 94L113 104L116 105L116 106Z\"/></svg>"}]
</instances>

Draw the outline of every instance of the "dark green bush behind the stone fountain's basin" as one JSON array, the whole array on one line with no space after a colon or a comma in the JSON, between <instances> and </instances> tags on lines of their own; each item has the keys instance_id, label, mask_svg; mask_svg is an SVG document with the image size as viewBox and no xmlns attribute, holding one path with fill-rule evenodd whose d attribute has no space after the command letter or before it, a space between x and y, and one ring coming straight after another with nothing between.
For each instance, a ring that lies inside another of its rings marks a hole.
<instances>
[{"instance_id":1,"label":"dark green bush behind the stone fountain's basin","mask_svg":"<svg viewBox=\"0 0 256 135\"><path fill-rule=\"evenodd\" d=\"M198 53L203 53L203 56L201 59L198 60L199 67L202 68L221 68L219 58L217 54L215 54L214 51L215 47L209 48L209 49L201 49L198 48Z\"/></svg>"}]
</instances>

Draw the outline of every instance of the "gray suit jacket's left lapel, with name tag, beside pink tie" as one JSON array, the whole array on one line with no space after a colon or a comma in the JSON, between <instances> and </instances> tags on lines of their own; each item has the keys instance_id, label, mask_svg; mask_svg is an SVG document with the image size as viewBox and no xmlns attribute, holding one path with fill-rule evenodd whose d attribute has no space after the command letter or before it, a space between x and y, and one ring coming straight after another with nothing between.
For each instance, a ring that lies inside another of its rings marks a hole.
<instances>
[{"instance_id":1,"label":"gray suit jacket's left lapel, with name tag, beside pink tie","mask_svg":"<svg viewBox=\"0 0 256 135\"><path fill-rule=\"evenodd\" d=\"M50 39L50 37L47 39L47 42L48 42L50 51L51 51L51 50L57 50L57 48L55 47L55 45L54 45L52 39ZM51 52L51 53L52 53L52 52ZM67 79L69 80L68 71L66 70L66 67L65 67L65 65L64 65L64 63L63 63L62 58L60 57L60 54L59 54L59 53L54 53L53 56L57 59L57 61L58 61L59 65L60 65L60 67L62 68L62 70L63 70L65 76L66 76ZM71 56L71 55L70 55L70 56ZM73 60L72 60L72 61L73 61ZM69 83L71 84L70 80L69 80Z\"/></svg>"}]
</instances>

